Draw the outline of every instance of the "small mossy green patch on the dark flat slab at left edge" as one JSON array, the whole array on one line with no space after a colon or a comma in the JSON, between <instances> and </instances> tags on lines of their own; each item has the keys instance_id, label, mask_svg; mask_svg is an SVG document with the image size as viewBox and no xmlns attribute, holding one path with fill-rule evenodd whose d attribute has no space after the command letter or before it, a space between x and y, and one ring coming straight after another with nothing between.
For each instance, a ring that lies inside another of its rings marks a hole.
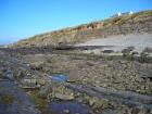
<instances>
[{"instance_id":1,"label":"small mossy green patch on the dark flat slab at left edge","mask_svg":"<svg viewBox=\"0 0 152 114\"><path fill-rule=\"evenodd\" d=\"M0 101L5 104L12 104L14 101L14 97L12 94L1 94Z\"/></svg>"}]
</instances>

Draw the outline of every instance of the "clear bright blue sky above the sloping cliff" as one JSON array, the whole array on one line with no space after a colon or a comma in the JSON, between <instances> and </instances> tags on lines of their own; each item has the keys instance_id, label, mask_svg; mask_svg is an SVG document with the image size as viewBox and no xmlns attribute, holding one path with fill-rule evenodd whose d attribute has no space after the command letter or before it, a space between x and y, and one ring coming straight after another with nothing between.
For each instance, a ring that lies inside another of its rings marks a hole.
<instances>
[{"instance_id":1,"label":"clear bright blue sky above the sloping cliff","mask_svg":"<svg viewBox=\"0 0 152 114\"><path fill-rule=\"evenodd\" d=\"M142 10L152 0L0 0L0 43Z\"/></svg>"}]
</instances>

